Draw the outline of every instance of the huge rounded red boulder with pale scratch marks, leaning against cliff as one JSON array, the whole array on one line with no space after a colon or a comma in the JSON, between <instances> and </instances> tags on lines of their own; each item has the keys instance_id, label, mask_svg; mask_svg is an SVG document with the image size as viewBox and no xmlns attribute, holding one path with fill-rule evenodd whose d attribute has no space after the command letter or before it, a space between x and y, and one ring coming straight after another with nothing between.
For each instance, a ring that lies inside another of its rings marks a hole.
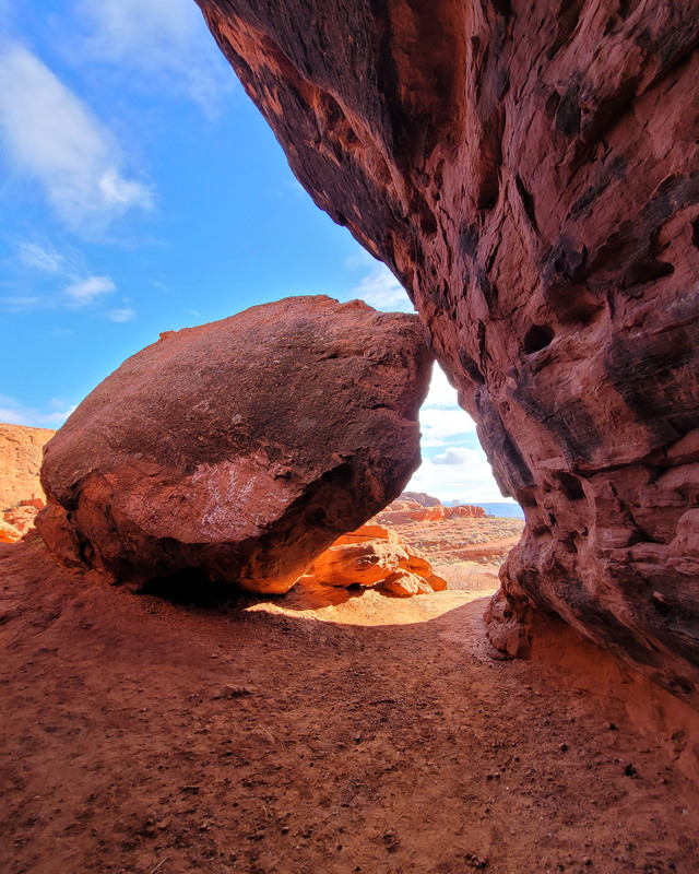
<instances>
[{"instance_id":1,"label":"huge rounded red boulder with pale scratch marks, leaning against cliff","mask_svg":"<svg viewBox=\"0 0 699 874\"><path fill-rule=\"evenodd\" d=\"M45 451L36 527L62 562L285 592L405 486L431 356L416 316L296 297L170 331Z\"/></svg>"}]
</instances>

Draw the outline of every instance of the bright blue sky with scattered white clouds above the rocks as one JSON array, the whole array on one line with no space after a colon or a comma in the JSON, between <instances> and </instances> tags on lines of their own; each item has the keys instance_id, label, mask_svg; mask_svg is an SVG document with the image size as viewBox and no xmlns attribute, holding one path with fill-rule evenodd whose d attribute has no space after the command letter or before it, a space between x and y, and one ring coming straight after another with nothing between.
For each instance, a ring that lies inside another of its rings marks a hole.
<instances>
[{"instance_id":1,"label":"bright blue sky with scattered white clouds above the rocks","mask_svg":"<svg viewBox=\"0 0 699 874\"><path fill-rule=\"evenodd\" d=\"M161 331L297 294L412 310L318 210L192 0L0 0L0 421L58 427ZM443 375L411 487L501 500Z\"/></svg>"}]
</instances>

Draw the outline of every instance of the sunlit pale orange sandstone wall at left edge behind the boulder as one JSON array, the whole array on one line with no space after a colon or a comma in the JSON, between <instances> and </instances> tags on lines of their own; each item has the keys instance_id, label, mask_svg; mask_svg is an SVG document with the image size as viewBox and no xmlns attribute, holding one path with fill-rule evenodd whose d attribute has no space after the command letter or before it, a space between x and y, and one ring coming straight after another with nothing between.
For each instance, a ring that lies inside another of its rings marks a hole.
<instances>
[{"instance_id":1,"label":"sunlit pale orange sandstone wall at left edge behind the boulder","mask_svg":"<svg viewBox=\"0 0 699 874\"><path fill-rule=\"evenodd\" d=\"M21 500L45 499L39 469L44 445L54 434L48 428L0 424L0 511Z\"/></svg>"}]
</instances>

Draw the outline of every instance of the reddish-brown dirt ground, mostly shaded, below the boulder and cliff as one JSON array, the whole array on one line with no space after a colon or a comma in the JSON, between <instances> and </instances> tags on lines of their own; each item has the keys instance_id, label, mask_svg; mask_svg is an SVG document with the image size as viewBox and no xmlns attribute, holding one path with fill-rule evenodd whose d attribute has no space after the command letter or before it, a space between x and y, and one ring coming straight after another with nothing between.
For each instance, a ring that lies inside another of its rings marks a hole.
<instances>
[{"instance_id":1,"label":"reddish-brown dirt ground, mostly shaded, below the boulder and cliff","mask_svg":"<svg viewBox=\"0 0 699 874\"><path fill-rule=\"evenodd\" d=\"M588 645L493 660L487 598L192 606L0 547L0 870L696 874L696 714Z\"/></svg>"}]
</instances>

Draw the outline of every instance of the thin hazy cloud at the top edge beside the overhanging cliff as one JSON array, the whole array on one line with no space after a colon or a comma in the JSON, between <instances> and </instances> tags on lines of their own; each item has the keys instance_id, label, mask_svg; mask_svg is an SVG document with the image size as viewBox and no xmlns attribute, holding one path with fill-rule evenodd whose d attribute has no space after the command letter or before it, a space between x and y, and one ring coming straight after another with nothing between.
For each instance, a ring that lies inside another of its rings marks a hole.
<instances>
[{"instance_id":1,"label":"thin hazy cloud at the top edge beside the overhanging cliff","mask_svg":"<svg viewBox=\"0 0 699 874\"><path fill-rule=\"evenodd\" d=\"M141 82L183 93L209 114L235 87L192 0L80 0L88 34L80 57L141 74Z\"/></svg>"}]
</instances>

